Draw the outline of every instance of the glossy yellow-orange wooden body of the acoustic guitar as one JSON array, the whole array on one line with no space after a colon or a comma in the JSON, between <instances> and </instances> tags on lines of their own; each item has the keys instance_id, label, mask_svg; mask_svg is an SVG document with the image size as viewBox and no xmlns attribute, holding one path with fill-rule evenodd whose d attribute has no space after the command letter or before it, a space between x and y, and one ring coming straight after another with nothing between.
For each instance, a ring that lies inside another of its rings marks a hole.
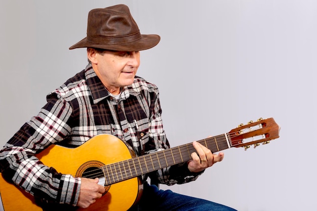
<instances>
[{"instance_id":1,"label":"glossy yellow-orange wooden body of the acoustic guitar","mask_svg":"<svg viewBox=\"0 0 317 211\"><path fill-rule=\"evenodd\" d=\"M96 161L106 165L130 159L132 154L122 140L112 135L101 134L77 148L52 145L36 156L45 165L53 166L62 174L80 177L78 172L81 173L81 170L87 167L94 167ZM107 186L109 190L94 204L86 209L78 208L77 210L128 210L138 201L142 187L138 177L112 184L110 187ZM35 204L32 195L8 183L2 175L0 175L0 194L5 211L42 210Z\"/></svg>"}]
</instances>

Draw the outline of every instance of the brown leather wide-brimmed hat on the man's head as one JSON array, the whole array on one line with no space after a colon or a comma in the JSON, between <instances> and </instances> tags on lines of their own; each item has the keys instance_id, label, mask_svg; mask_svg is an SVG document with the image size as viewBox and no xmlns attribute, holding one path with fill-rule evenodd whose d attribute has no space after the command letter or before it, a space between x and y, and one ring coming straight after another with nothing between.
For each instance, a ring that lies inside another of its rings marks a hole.
<instances>
[{"instance_id":1,"label":"brown leather wide-brimmed hat on the man's head","mask_svg":"<svg viewBox=\"0 0 317 211\"><path fill-rule=\"evenodd\" d=\"M142 51L156 46L156 34L141 34L126 5L94 9L88 14L87 37L71 46L99 48L113 51Z\"/></svg>"}]
</instances>

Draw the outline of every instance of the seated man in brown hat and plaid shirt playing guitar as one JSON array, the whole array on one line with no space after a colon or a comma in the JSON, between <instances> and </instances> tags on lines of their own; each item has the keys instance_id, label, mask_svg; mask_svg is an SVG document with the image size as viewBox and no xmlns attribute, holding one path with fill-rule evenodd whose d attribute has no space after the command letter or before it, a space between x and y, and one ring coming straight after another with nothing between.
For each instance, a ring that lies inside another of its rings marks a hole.
<instances>
[{"instance_id":1,"label":"seated man in brown hat and plaid shirt playing guitar","mask_svg":"<svg viewBox=\"0 0 317 211\"><path fill-rule=\"evenodd\" d=\"M0 152L3 176L31 193L45 209L60 209L53 204L87 208L105 192L99 179L59 173L54 166L44 165L36 153L52 144L77 147L98 134L120 138L137 156L169 148L159 91L136 76L139 51L150 49L159 41L159 35L140 34L125 5L90 11L87 37L70 47L87 48L89 64L50 93L38 115L4 146ZM194 181L207 167L223 159L223 153L213 154L197 142L193 142L193 147L196 152L190 161L154 171L149 174L151 180L167 185ZM233 210L147 183L133 209Z\"/></svg>"}]
</instances>

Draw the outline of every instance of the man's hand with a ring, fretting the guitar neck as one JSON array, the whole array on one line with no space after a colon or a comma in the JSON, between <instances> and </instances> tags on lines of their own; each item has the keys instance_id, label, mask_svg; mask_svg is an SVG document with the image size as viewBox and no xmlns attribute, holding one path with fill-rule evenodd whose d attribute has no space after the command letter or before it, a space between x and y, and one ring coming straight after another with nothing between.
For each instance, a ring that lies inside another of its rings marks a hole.
<instances>
[{"instance_id":1,"label":"man's hand with a ring, fretting the guitar neck","mask_svg":"<svg viewBox=\"0 0 317 211\"><path fill-rule=\"evenodd\" d=\"M223 159L224 154L222 152L213 154L207 147L195 141L192 145L197 153L191 153L192 159L188 161L188 170L190 172L201 172Z\"/></svg>"}]
</instances>

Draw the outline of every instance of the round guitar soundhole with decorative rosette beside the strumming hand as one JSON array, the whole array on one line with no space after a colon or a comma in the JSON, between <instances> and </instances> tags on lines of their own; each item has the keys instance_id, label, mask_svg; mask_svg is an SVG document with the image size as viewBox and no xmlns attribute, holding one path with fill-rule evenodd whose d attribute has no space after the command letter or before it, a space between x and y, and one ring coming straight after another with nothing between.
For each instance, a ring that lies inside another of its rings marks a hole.
<instances>
[{"instance_id":1,"label":"round guitar soundhole with decorative rosette beside the strumming hand","mask_svg":"<svg viewBox=\"0 0 317 211\"><path fill-rule=\"evenodd\" d=\"M111 185L105 186L104 174L100 168L104 165L105 164L103 164L102 162L97 161L97 160L91 160L91 161L85 162L84 164L82 164L80 166L80 168L78 168L78 170L76 172L76 177L84 177L84 178L89 178L89 179L95 179L96 177L98 177L99 184L104 186L104 188L105 188L104 194L106 194L108 192L108 190L110 189Z\"/></svg>"}]
</instances>

